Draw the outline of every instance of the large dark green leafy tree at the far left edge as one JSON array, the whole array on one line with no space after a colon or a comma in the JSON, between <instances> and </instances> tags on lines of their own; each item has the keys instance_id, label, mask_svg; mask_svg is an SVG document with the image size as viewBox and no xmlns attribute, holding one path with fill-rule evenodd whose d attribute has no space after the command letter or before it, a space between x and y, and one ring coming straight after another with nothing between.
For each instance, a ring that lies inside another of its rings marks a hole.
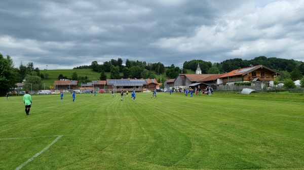
<instances>
[{"instance_id":1,"label":"large dark green leafy tree at the far left edge","mask_svg":"<svg viewBox=\"0 0 304 170\"><path fill-rule=\"evenodd\" d=\"M10 55L6 58L0 53L0 94L5 94L15 87L17 79L15 75L18 75L14 69L14 62Z\"/></svg>"}]
</instances>

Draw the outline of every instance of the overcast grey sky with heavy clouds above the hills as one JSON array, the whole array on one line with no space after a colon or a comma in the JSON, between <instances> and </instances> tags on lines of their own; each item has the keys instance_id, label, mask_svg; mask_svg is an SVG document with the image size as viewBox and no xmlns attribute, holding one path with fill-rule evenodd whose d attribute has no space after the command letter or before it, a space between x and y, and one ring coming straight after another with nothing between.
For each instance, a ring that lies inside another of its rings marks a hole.
<instances>
[{"instance_id":1,"label":"overcast grey sky with heavy clouds above the hills","mask_svg":"<svg viewBox=\"0 0 304 170\"><path fill-rule=\"evenodd\" d=\"M260 55L304 62L304 0L1 0L0 21L0 53L15 67L118 58L181 67Z\"/></svg>"}]
</instances>

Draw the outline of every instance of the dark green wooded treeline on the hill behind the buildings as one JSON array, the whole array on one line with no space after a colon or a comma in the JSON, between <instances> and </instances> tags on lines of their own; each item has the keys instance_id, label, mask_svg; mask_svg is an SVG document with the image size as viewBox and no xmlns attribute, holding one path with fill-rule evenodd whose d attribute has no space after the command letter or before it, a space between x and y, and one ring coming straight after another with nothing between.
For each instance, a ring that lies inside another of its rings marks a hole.
<instances>
[{"instance_id":1,"label":"dark green wooded treeline on the hill behind the buildings","mask_svg":"<svg viewBox=\"0 0 304 170\"><path fill-rule=\"evenodd\" d=\"M242 60L242 59L229 59L221 63L205 62L203 60L192 60L183 63L183 73L186 74L185 69L196 71L198 64L202 74L220 74L225 72L230 72L232 70L241 69L249 67L250 65L263 65L265 67L277 70L282 73L281 79L300 79L304 74L304 63L279 59L279 58L267 58L265 56L258 56L252 60ZM92 62L90 66L80 66L73 69L93 69L93 71L99 72L104 77L104 72L111 73L111 79L116 78L155 78L155 75L150 71L155 71L156 74L166 74L170 79L174 79L181 73L179 67L175 67L173 64L169 67L165 67L162 63L146 63L140 61L130 61L126 60L125 66L123 65L123 60L111 59L103 64L98 64L96 61ZM119 73L123 73L123 77L119 76ZM101 79L101 80L103 80Z\"/></svg>"}]
</instances>

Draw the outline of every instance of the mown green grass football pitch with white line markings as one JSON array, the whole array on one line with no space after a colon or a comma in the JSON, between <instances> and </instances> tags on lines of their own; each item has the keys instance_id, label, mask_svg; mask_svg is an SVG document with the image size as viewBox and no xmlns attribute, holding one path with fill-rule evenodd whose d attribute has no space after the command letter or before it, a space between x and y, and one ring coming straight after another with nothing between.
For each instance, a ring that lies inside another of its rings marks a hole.
<instances>
[{"instance_id":1,"label":"mown green grass football pitch with white line markings","mask_svg":"<svg viewBox=\"0 0 304 170\"><path fill-rule=\"evenodd\" d=\"M0 169L304 169L304 95L151 95L0 97Z\"/></svg>"}]
</instances>

